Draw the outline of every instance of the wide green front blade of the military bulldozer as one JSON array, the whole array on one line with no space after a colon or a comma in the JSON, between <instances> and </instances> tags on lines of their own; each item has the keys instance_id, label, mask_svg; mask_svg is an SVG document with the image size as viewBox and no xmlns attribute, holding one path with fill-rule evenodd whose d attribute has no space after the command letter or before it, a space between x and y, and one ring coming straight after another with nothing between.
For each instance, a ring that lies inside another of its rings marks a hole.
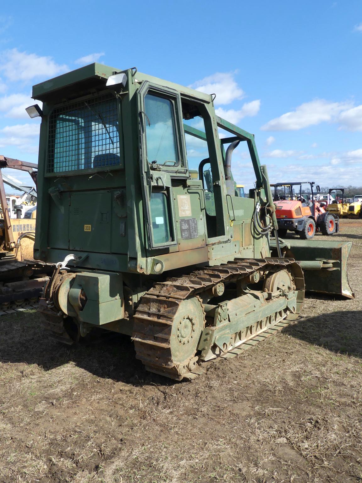
<instances>
[{"instance_id":1,"label":"wide green front blade of the military bulldozer","mask_svg":"<svg viewBox=\"0 0 362 483\"><path fill-rule=\"evenodd\" d=\"M303 269L307 292L354 298L347 275L351 241L288 240L287 245L286 256Z\"/></svg>"}]
</instances>

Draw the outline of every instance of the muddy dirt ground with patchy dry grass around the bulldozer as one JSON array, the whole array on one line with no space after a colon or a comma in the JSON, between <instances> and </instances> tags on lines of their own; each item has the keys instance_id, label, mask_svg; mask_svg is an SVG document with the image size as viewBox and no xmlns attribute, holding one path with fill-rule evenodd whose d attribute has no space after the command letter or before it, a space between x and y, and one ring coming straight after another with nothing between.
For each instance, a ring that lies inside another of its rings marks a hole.
<instances>
[{"instance_id":1,"label":"muddy dirt ground with patchy dry grass around the bulldozer","mask_svg":"<svg viewBox=\"0 0 362 483\"><path fill-rule=\"evenodd\" d=\"M334 240L356 299L307 298L193 382L145 372L129 338L69 349L34 311L1 317L0 482L361 482L362 220Z\"/></svg>"}]
</instances>

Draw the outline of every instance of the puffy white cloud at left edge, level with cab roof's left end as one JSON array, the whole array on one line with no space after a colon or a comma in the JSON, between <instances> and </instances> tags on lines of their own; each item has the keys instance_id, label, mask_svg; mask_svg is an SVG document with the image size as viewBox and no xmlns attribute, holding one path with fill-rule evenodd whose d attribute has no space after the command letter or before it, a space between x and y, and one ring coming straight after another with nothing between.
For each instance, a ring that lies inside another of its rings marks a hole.
<instances>
[{"instance_id":1,"label":"puffy white cloud at left edge, level with cab roof's left end","mask_svg":"<svg viewBox=\"0 0 362 483\"><path fill-rule=\"evenodd\" d=\"M0 71L11 81L28 81L34 77L55 77L68 71L65 64L57 64L53 57L6 50L0 55Z\"/></svg>"}]
</instances>

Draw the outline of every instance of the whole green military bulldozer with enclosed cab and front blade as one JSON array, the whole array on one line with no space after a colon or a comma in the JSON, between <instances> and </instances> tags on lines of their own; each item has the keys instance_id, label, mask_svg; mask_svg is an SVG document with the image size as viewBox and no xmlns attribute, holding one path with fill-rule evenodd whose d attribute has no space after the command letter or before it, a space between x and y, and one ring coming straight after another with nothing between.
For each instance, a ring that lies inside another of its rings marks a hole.
<instances>
[{"instance_id":1,"label":"whole green military bulldozer with enclosed cab and front blade","mask_svg":"<svg viewBox=\"0 0 362 483\"><path fill-rule=\"evenodd\" d=\"M203 361L295 320L304 272L312 290L353 298L351 243L278 240L254 136L218 117L212 96L91 64L35 85L33 98L34 255L56 264L40 304L56 340L128 334L146 369L192 379ZM195 140L207 155L193 169ZM249 198L231 173L240 142L255 172Z\"/></svg>"}]
</instances>

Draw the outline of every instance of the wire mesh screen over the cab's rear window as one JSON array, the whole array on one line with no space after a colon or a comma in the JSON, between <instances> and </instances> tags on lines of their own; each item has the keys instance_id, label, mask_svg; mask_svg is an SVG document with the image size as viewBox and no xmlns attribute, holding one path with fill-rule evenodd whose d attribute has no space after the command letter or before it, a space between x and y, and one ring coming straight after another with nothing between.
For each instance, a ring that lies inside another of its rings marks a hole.
<instances>
[{"instance_id":1,"label":"wire mesh screen over the cab's rear window","mask_svg":"<svg viewBox=\"0 0 362 483\"><path fill-rule=\"evenodd\" d=\"M112 94L54 109L49 123L48 173L120 162L117 102Z\"/></svg>"}]
</instances>

